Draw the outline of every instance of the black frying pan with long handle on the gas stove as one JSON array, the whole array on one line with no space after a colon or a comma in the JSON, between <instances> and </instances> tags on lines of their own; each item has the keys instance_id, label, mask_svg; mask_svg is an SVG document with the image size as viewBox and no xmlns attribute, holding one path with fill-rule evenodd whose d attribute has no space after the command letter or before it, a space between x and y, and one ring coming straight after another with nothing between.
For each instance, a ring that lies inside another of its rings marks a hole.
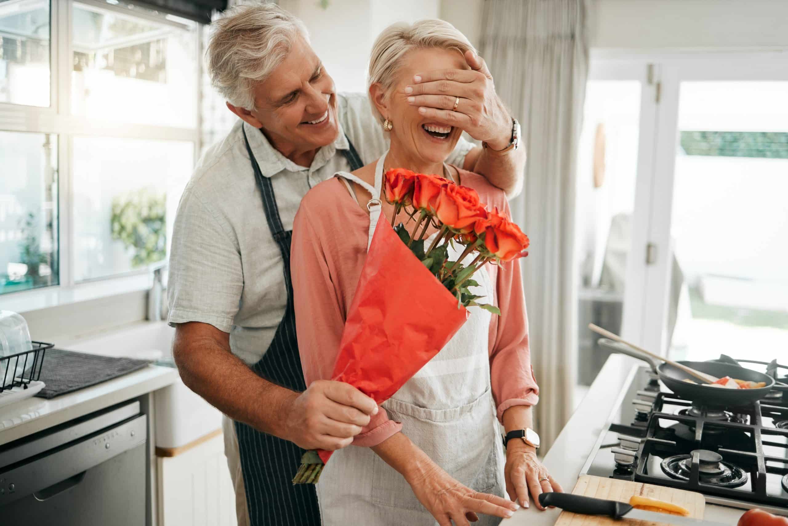
<instances>
[{"instance_id":1,"label":"black frying pan with long handle on the gas stove","mask_svg":"<svg viewBox=\"0 0 788 526\"><path fill-rule=\"evenodd\" d=\"M696 381L692 376L682 371L678 367L673 367L671 364L657 364L656 360L652 360L639 351L632 349L629 345L624 345L616 341L609 340L608 338L600 338L599 344L605 349L609 349L614 353L622 353L628 356L644 360L647 362L652 371L660 375L660 380L667 386L668 389L678 394L680 397L688 398L691 401L701 403L703 405L711 406L737 406L748 405L756 400L765 397L775 386L775 379L771 376L764 375L762 372L753 371L734 364L723 364L716 361L708 362L689 362L680 361L679 364L692 367L697 371L706 373L707 375L714 375L717 378L723 376L730 376L739 380L749 380L751 382L766 382L765 387L758 389L725 389L719 387L701 386L695 383L684 382L685 379Z\"/></svg>"}]
</instances>

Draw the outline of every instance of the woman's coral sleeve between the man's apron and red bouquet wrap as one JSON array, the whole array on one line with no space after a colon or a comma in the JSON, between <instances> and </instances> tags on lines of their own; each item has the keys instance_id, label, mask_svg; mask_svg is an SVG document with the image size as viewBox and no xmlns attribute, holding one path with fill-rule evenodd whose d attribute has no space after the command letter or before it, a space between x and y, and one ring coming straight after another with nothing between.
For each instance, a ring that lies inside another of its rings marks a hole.
<instances>
[{"instance_id":1,"label":"woman's coral sleeve between the man's apron and red bouquet wrap","mask_svg":"<svg viewBox=\"0 0 788 526\"><path fill-rule=\"evenodd\" d=\"M296 334L304 380L309 386L315 380L330 380L344 330L344 315L331 280L327 254L321 240L331 243L332 233L316 232L310 222L310 208L322 203L304 199L296 220L290 247L293 300L296 308ZM318 211L312 211L319 216ZM335 233L341 235L341 233ZM388 418L380 407L377 415L362 428L353 440L354 446L377 446L402 429L402 423Z\"/></svg>"}]
</instances>

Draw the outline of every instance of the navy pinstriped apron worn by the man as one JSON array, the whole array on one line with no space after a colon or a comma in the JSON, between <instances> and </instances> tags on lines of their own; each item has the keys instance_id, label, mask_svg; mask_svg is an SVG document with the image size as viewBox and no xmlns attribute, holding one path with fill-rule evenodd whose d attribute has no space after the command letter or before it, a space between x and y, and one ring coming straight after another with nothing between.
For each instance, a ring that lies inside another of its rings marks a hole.
<instances>
[{"instance_id":1,"label":"navy pinstriped apron worn by the man","mask_svg":"<svg viewBox=\"0 0 788 526\"><path fill-rule=\"evenodd\" d=\"M296 341L296 311L293 308L293 288L290 281L292 230L285 230L282 226L271 180L262 175L249 147L245 130L243 140L246 142L251 167L255 171L255 181L262 195L266 222L282 253L284 285L288 292L284 317L277 327L273 341L262 359L251 368L269 382L301 393L307 386L303 379ZM350 140L348 146L348 150L342 150L342 154L348 159L351 170L358 170L362 166L359 154ZM261 400L260 403L265 404L266 401ZM319 526L320 509L314 484L294 485L291 482L301 464L303 450L292 442L266 435L245 423L234 423L251 526Z\"/></svg>"}]
</instances>

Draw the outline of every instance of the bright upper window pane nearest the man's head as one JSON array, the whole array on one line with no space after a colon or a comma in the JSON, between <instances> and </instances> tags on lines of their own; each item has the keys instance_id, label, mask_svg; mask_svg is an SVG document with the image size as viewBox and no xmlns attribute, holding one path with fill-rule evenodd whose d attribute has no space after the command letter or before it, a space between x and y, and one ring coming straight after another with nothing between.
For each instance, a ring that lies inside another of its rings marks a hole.
<instances>
[{"instance_id":1,"label":"bright upper window pane nearest the man's head","mask_svg":"<svg viewBox=\"0 0 788 526\"><path fill-rule=\"evenodd\" d=\"M72 13L72 114L196 126L195 31L92 4L75 3Z\"/></svg>"}]
</instances>

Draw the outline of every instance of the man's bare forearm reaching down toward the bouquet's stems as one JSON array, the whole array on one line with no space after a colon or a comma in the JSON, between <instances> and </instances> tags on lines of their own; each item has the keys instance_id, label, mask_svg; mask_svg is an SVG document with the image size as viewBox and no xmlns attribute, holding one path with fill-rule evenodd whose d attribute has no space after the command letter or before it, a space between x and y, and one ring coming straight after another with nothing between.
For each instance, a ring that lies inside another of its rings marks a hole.
<instances>
[{"instance_id":1,"label":"man's bare forearm reaching down toward the bouquet's stems","mask_svg":"<svg viewBox=\"0 0 788 526\"><path fill-rule=\"evenodd\" d=\"M173 357L189 389L232 420L288 438L284 436L282 415L298 393L260 378L214 338L190 339L191 349L185 348L187 344L179 341L181 338L176 337Z\"/></svg>"}]
</instances>

